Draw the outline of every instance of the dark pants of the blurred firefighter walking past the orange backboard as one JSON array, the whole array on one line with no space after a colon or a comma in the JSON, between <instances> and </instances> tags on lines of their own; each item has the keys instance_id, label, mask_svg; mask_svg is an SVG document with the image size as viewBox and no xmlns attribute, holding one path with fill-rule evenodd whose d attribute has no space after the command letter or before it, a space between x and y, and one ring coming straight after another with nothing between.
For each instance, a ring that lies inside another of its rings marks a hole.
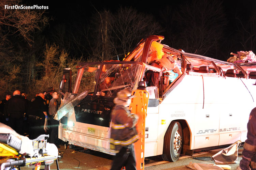
<instances>
[{"instance_id":1,"label":"dark pants of the blurred firefighter walking past the orange backboard","mask_svg":"<svg viewBox=\"0 0 256 170\"><path fill-rule=\"evenodd\" d=\"M125 167L126 170L136 170L133 144L121 148L114 157L111 170L120 170L122 167Z\"/></svg>"}]
</instances>

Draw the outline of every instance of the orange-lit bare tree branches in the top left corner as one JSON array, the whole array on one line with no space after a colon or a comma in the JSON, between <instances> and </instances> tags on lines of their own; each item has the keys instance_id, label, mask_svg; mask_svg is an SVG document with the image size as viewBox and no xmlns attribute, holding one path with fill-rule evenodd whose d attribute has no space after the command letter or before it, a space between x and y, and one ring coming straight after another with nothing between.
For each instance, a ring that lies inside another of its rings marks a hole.
<instances>
[{"instance_id":1,"label":"orange-lit bare tree branches in the top left corner","mask_svg":"<svg viewBox=\"0 0 256 170\"><path fill-rule=\"evenodd\" d=\"M5 5L14 6L22 5L22 3L20 0L0 1L1 48L5 43L8 43L8 47L11 46L11 42L8 41L9 35L22 36L30 44L33 42L31 33L35 29L40 30L42 25L48 23L48 19L43 16L44 10L5 9Z\"/></svg>"}]
</instances>

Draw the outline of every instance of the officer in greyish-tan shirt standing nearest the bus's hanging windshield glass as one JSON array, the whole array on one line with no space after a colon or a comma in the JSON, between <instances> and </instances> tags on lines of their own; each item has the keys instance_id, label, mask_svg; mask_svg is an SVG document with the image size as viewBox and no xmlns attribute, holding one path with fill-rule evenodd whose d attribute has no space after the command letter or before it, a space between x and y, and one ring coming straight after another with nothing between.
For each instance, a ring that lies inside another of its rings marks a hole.
<instances>
[{"instance_id":1,"label":"officer in greyish-tan shirt standing nearest the bus's hanging windshield glass","mask_svg":"<svg viewBox=\"0 0 256 170\"><path fill-rule=\"evenodd\" d=\"M49 117L50 117L50 122L51 122L51 135L49 137L49 142L54 143L55 145L57 144L58 140L58 129L59 129L59 121L55 120L55 114L57 113L58 110L58 101L57 99L59 98L59 94L57 92L52 93L52 99L49 103ZM58 147L58 146L57 146Z\"/></svg>"}]
</instances>

